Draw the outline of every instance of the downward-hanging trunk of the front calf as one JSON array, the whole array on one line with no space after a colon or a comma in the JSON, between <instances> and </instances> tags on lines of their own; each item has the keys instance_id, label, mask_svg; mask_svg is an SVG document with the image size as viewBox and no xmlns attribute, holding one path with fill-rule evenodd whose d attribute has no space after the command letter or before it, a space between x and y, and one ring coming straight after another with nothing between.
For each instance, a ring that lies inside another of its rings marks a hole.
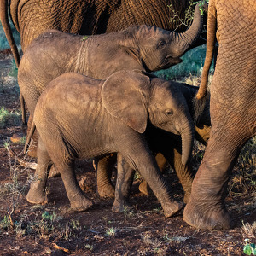
<instances>
[{"instance_id":1,"label":"downward-hanging trunk of the front calf","mask_svg":"<svg viewBox=\"0 0 256 256\"><path fill-rule=\"evenodd\" d=\"M192 119L189 118L183 124L183 128L180 131L182 137L182 164L186 165L189 161L190 154L192 152L195 136L195 128Z\"/></svg>"}]
</instances>

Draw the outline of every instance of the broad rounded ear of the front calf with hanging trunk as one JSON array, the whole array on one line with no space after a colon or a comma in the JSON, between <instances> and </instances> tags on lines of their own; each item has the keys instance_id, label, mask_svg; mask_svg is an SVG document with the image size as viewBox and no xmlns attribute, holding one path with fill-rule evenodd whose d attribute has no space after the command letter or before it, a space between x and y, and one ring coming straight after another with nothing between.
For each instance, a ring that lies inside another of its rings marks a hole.
<instances>
[{"instance_id":1,"label":"broad rounded ear of the front calf with hanging trunk","mask_svg":"<svg viewBox=\"0 0 256 256\"><path fill-rule=\"evenodd\" d=\"M108 113L143 133L148 121L150 79L143 73L119 71L102 85L102 103Z\"/></svg>"}]
</instances>

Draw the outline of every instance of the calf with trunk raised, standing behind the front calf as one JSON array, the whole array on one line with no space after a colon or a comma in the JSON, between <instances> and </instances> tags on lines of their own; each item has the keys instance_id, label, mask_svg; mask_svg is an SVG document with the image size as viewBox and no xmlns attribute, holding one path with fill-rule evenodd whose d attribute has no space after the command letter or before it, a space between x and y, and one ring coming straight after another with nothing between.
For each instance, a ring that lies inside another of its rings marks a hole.
<instances>
[{"instance_id":1,"label":"calf with trunk raised, standing behind the front calf","mask_svg":"<svg viewBox=\"0 0 256 256\"><path fill-rule=\"evenodd\" d=\"M61 73L107 79L121 69L152 72L171 67L182 61L180 56L200 31L201 20L194 20L183 33L146 25L89 37L55 30L45 32L30 44L20 61L20 92L33 114L38 96Z\"/></svg>"}]
</instances>

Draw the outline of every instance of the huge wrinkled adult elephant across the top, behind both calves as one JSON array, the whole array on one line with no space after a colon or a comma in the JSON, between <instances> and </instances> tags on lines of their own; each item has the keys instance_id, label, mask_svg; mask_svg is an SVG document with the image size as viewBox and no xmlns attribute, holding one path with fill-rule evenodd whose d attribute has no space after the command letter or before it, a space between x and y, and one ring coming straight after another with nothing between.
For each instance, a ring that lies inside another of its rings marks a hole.
<instances>
[{"instance_id":1,"label":"huge wrinkled adult elephant across the top, behind both calves","mask_svg":"<svg viewBox=\"0 0 256 256\"><path fill-rule=\"evenodd\" d=\"M15 44L9 26L9 15L15 27L20 32L21 49L23 52L31 44L32 40L49 29L56 29L74 34L91 35L104 32L118 32L132 25L159 26L166 30L184 32L187 27L170 22L170 9L184 18L185 10L190 6L190 0L151 0L143 3L136 0L120 2L118 0L108 1L40 1L40 0L0 0L0 20L9 45L12 49L15 63L20 66L20 55ZM207 9L207 7L205 7ZM195 20L206 20L201 16L198 6L195 8ZM204 22L206 24L206 21ZM177 27L178 26L178 27ZM199 37L198 32L195 40L189 45L189 49L205 44L205 40ZM185 36L185 34L184 34ZM183 37L185 39L185 37ZM20 93L20 105L22 123L26 124L25 100Z\"/></svg>"}]
</instances>

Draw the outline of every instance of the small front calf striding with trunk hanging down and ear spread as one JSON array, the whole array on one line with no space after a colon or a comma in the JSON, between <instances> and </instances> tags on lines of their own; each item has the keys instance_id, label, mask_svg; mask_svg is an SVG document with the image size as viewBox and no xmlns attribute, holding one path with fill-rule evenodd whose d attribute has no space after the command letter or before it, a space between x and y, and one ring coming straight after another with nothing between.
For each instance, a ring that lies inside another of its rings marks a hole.
<instances>
[{"instance_id":1,"label":"small front calf striding with trunk hanging down and ear spread","mask_svg":"<svg viewBox=\"0 0 256 256\"><path fill-rule=\"evenodd\" d=\"M55 164L71 207L86 210L92 202L79 188L74 160L117 152L142 174L166 216L183 207L172 200L143 134L149 121L160 129L180 134L182 161L187 162L194 127L177 84L132 71L119 71L106 81L66 73L44 90L33 120L40 137L37 179L31 184L28 201L47 202L44 188L49 168Z\"/></svg>"}]
</instances>

